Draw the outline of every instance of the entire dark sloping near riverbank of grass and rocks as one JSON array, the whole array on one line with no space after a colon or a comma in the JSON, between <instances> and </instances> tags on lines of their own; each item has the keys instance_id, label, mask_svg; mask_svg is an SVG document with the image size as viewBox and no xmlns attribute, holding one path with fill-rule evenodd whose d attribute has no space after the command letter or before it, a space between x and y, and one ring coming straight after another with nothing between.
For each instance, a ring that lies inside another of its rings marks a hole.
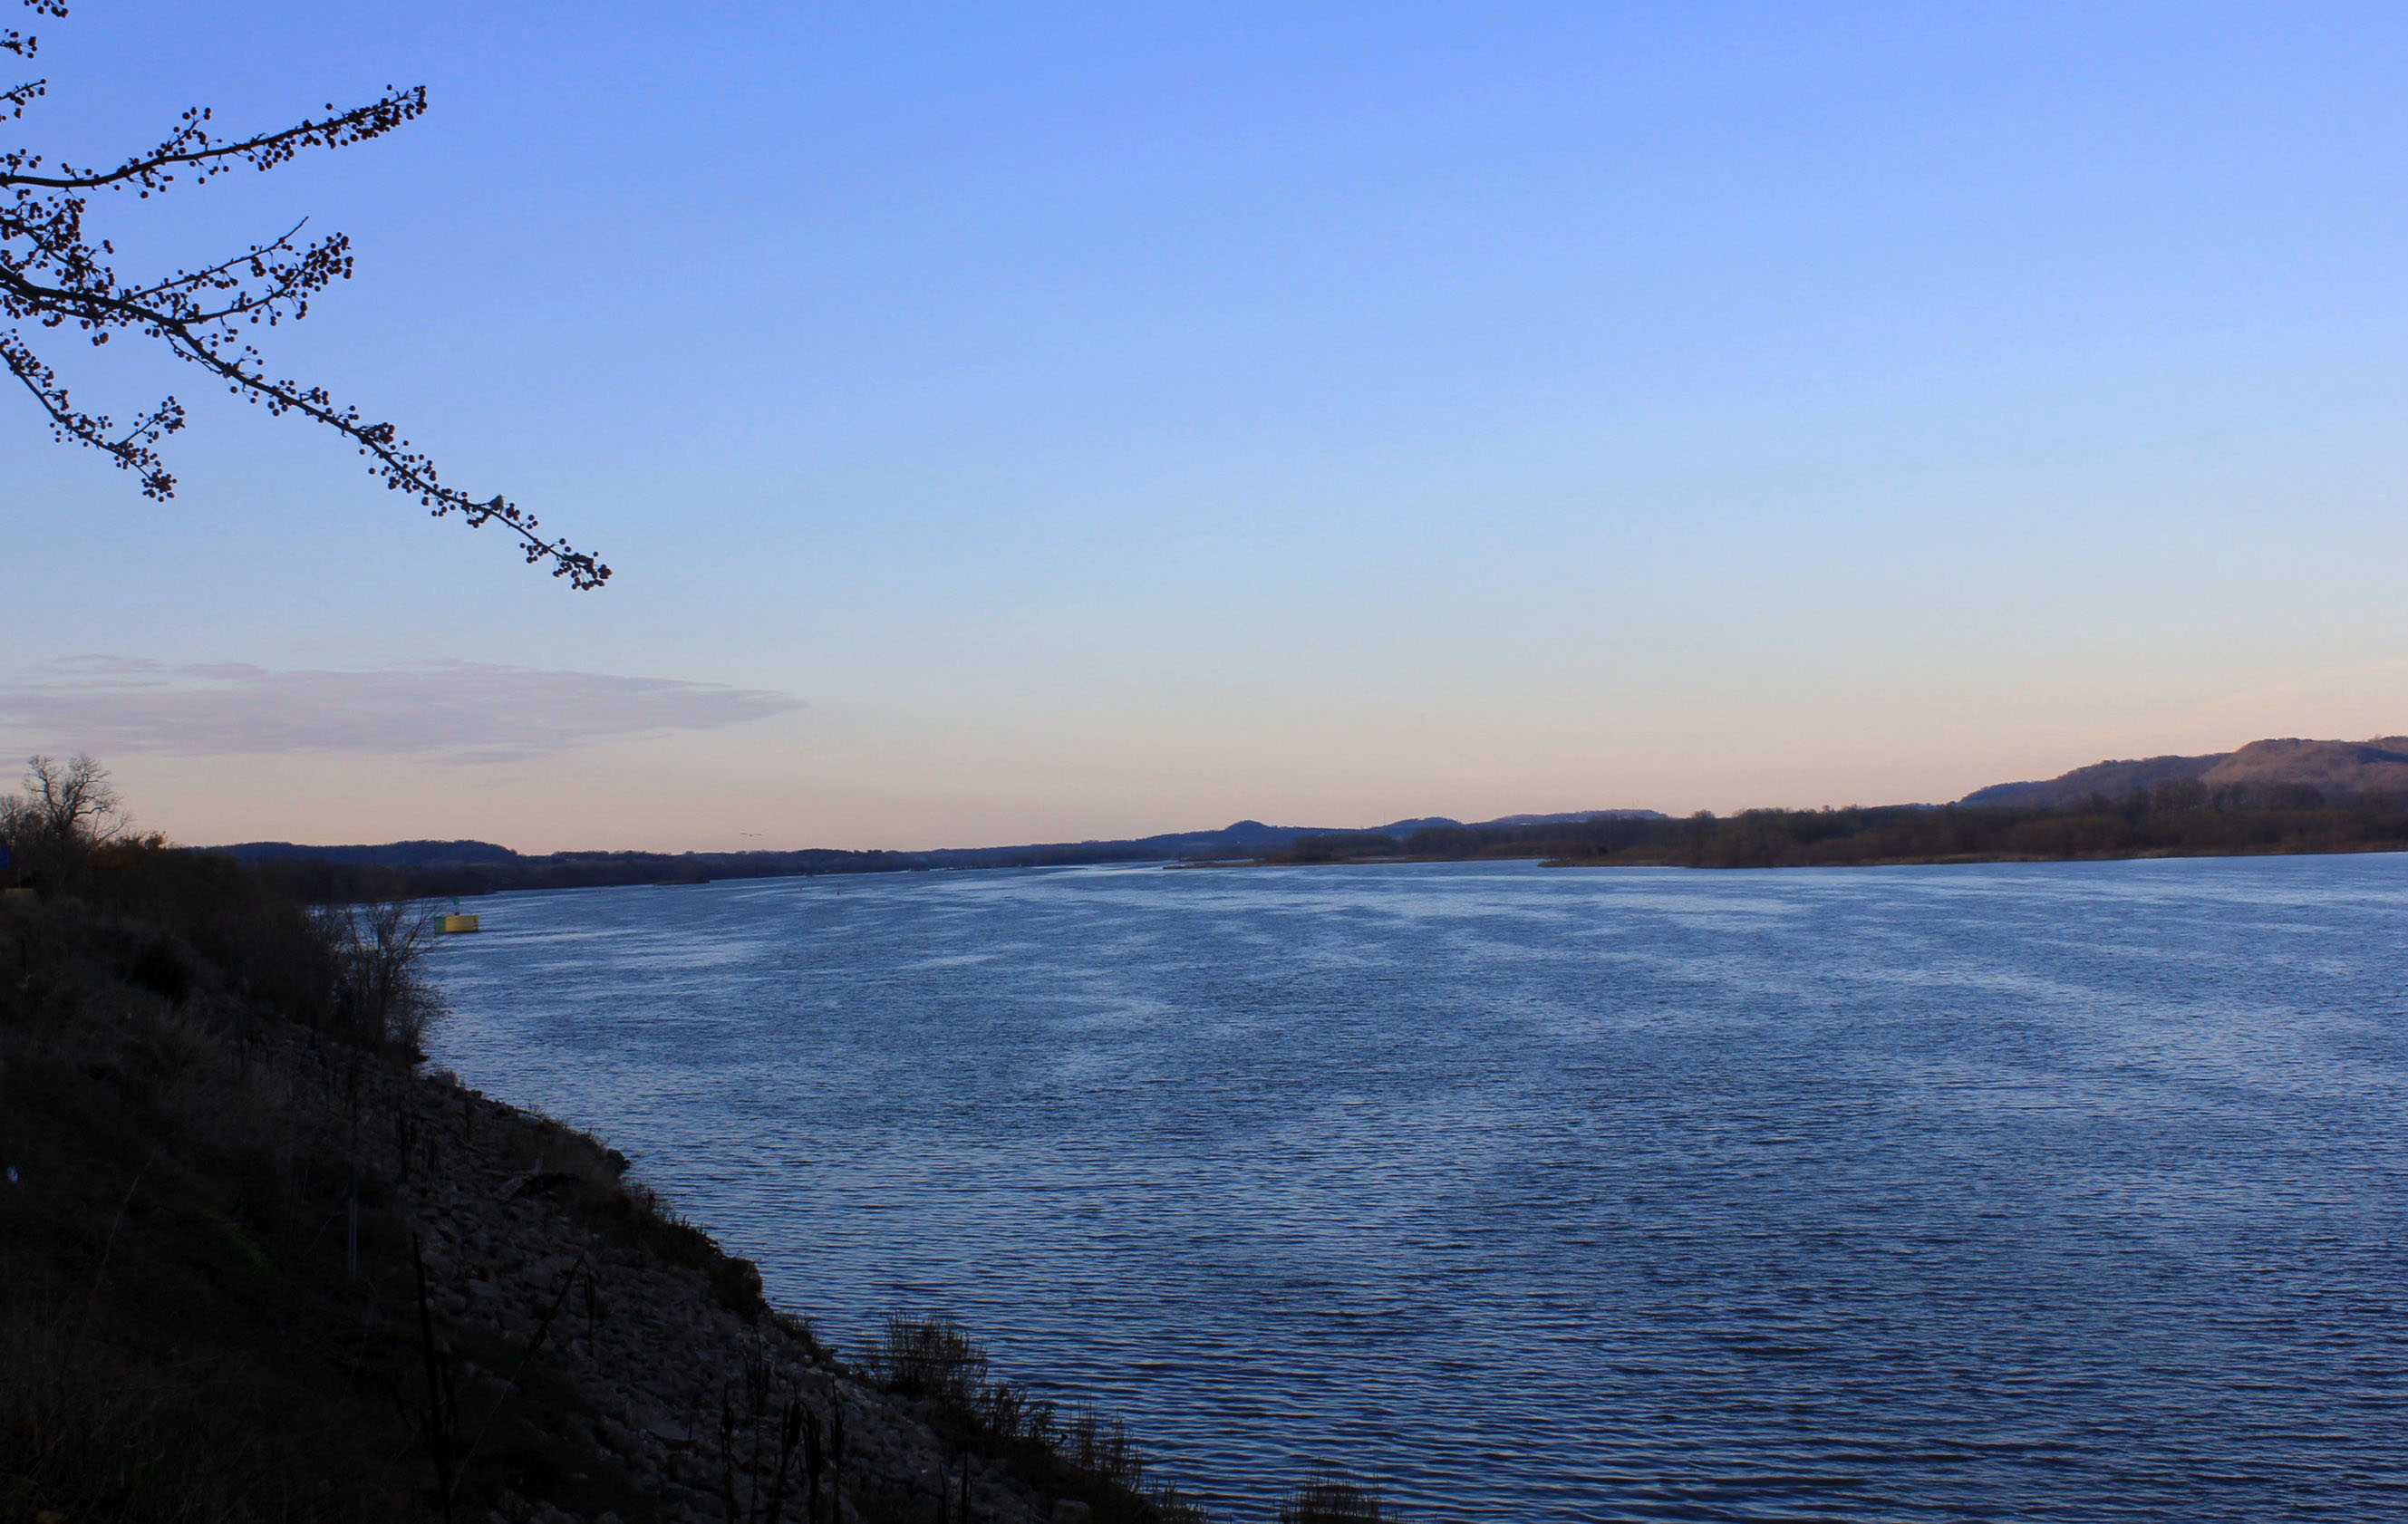
<instances>
[{"instance_id":1,"label":"entire dark sloping near riverbank of grass and rocks","mask_svg":"<svg viewBox=\"0 0 2408 1524\"><path fill-rule=\"evenodd\" d=\"M942 1327L850 1368L600 1141L0 908L0 1519L1178 1519Z\"/></svg>"}]
</instances>

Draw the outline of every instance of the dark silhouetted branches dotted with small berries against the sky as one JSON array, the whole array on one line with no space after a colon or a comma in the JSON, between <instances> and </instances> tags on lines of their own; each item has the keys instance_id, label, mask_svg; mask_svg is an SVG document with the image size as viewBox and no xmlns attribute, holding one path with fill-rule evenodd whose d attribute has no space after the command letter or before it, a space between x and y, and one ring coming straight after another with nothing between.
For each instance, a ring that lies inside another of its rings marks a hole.
<instances>
[{"instance_id":1,"label":"dark silhouetted branches dotted with small berries against the sky","mask_svg":"<svg viewBox=\"0 0 2408 1524\"><path fill-rule=\"evenodd\" d=\"M22 0L39 17L65 17L65 0ZM34 58L39 39L14 26L0 29L0 53ZM48 89L46 79L0 87L0 123L24 120ZM250 137L219 137L209 111L185 111L176 130L154 147L113 166L46 164L24 147L0 147L0 364L34 395L65 443L101 450L120 469L142 477L149 498L176 496L176 477L159 457L159 441L185 424L183 404L166 397L132 421L87 412L67 397L58 371L34 349L29 335L84 337L106 344L137 335L164 344L176 359L200 366L229 392L265 404L272 414L301 414L352 441L368 460L368 474L388 491L409 494L436 518L458 513L472 527L498 522L520 539L530 563L549 563L571 587L600 587L609 566L566 539L547 539L532 513L501 494L477 498L448 486L433 460L414 450L393 424L371 421L359 407L340 404L323 385L277 378L246 337L255 327L299 323L311 299L352 277L352 241L330 234L301 241L301 224L243 253L197 262L161 277L125 279L111 267L108 238L84 229L84 212L99 193L166 193L178 181L205 183L250 166L277 169L301 149L340 149L400 128L426 111L426 87L393 89L337 111L332 104L289 128ZM48 339L46 339L48 344Z\"/></svg>"}]
</instances>

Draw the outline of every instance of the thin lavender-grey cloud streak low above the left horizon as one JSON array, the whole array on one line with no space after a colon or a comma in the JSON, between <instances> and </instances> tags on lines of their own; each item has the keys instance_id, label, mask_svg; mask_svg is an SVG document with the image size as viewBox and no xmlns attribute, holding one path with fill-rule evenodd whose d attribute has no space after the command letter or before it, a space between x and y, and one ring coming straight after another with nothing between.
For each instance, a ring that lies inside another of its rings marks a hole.
<instances>
[{"instance_id":1,"label":"thin lavender-grey cloud streak low above the left horizon","mask_svg":"<svg viewBox=\"0 0 2408 1524\"><path fill-rule=\"evenodd\" d=\"M799 708L799 698L766 689L453 660L279 672L72 657L0 679L0 734L101 756L352 751L520 761Z\"/></svg>"}]
</instances>

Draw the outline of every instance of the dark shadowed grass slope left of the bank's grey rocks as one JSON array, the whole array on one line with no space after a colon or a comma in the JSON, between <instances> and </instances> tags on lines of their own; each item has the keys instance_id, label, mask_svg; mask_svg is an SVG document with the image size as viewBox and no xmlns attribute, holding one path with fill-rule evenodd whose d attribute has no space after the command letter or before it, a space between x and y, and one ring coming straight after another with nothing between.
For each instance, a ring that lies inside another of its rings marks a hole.
<instances>
[{"instance_id":1,"label":"dark shadowed grass slope left of the bank's grey rocks","mask_svg":"<svg viewBox=\"0 0 2408 1524\"><path fill-rule=\"evenodd\" d=\"M378 1401L258 1358L330 1334L327 1158L159 946L58 908L0 925L0 1519L409 1517Z\"/></svg>"}]
</instances>

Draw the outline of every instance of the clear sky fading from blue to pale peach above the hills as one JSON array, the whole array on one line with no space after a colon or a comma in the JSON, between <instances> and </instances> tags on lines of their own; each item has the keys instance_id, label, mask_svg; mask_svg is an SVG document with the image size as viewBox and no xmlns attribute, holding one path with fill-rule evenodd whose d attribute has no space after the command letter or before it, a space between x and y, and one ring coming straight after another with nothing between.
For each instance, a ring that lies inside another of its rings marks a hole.
<instances>
[{"instance_id":1,"label":"clear sky fading from blue to pale peach above the hills","mask_svg":"<svg viewBox=\"0 0 2408 1524\"><path fill-rule=\"evenodd\" d=\"M349 231L272 361L619 575L60 352L195 421L161 508L0 404L0 742L183 840L1943 799L2408 729L2398 7L402 12L82 0L17 132L424 82L99 219L128 270Z\"/></svg>"}]
</instances>

